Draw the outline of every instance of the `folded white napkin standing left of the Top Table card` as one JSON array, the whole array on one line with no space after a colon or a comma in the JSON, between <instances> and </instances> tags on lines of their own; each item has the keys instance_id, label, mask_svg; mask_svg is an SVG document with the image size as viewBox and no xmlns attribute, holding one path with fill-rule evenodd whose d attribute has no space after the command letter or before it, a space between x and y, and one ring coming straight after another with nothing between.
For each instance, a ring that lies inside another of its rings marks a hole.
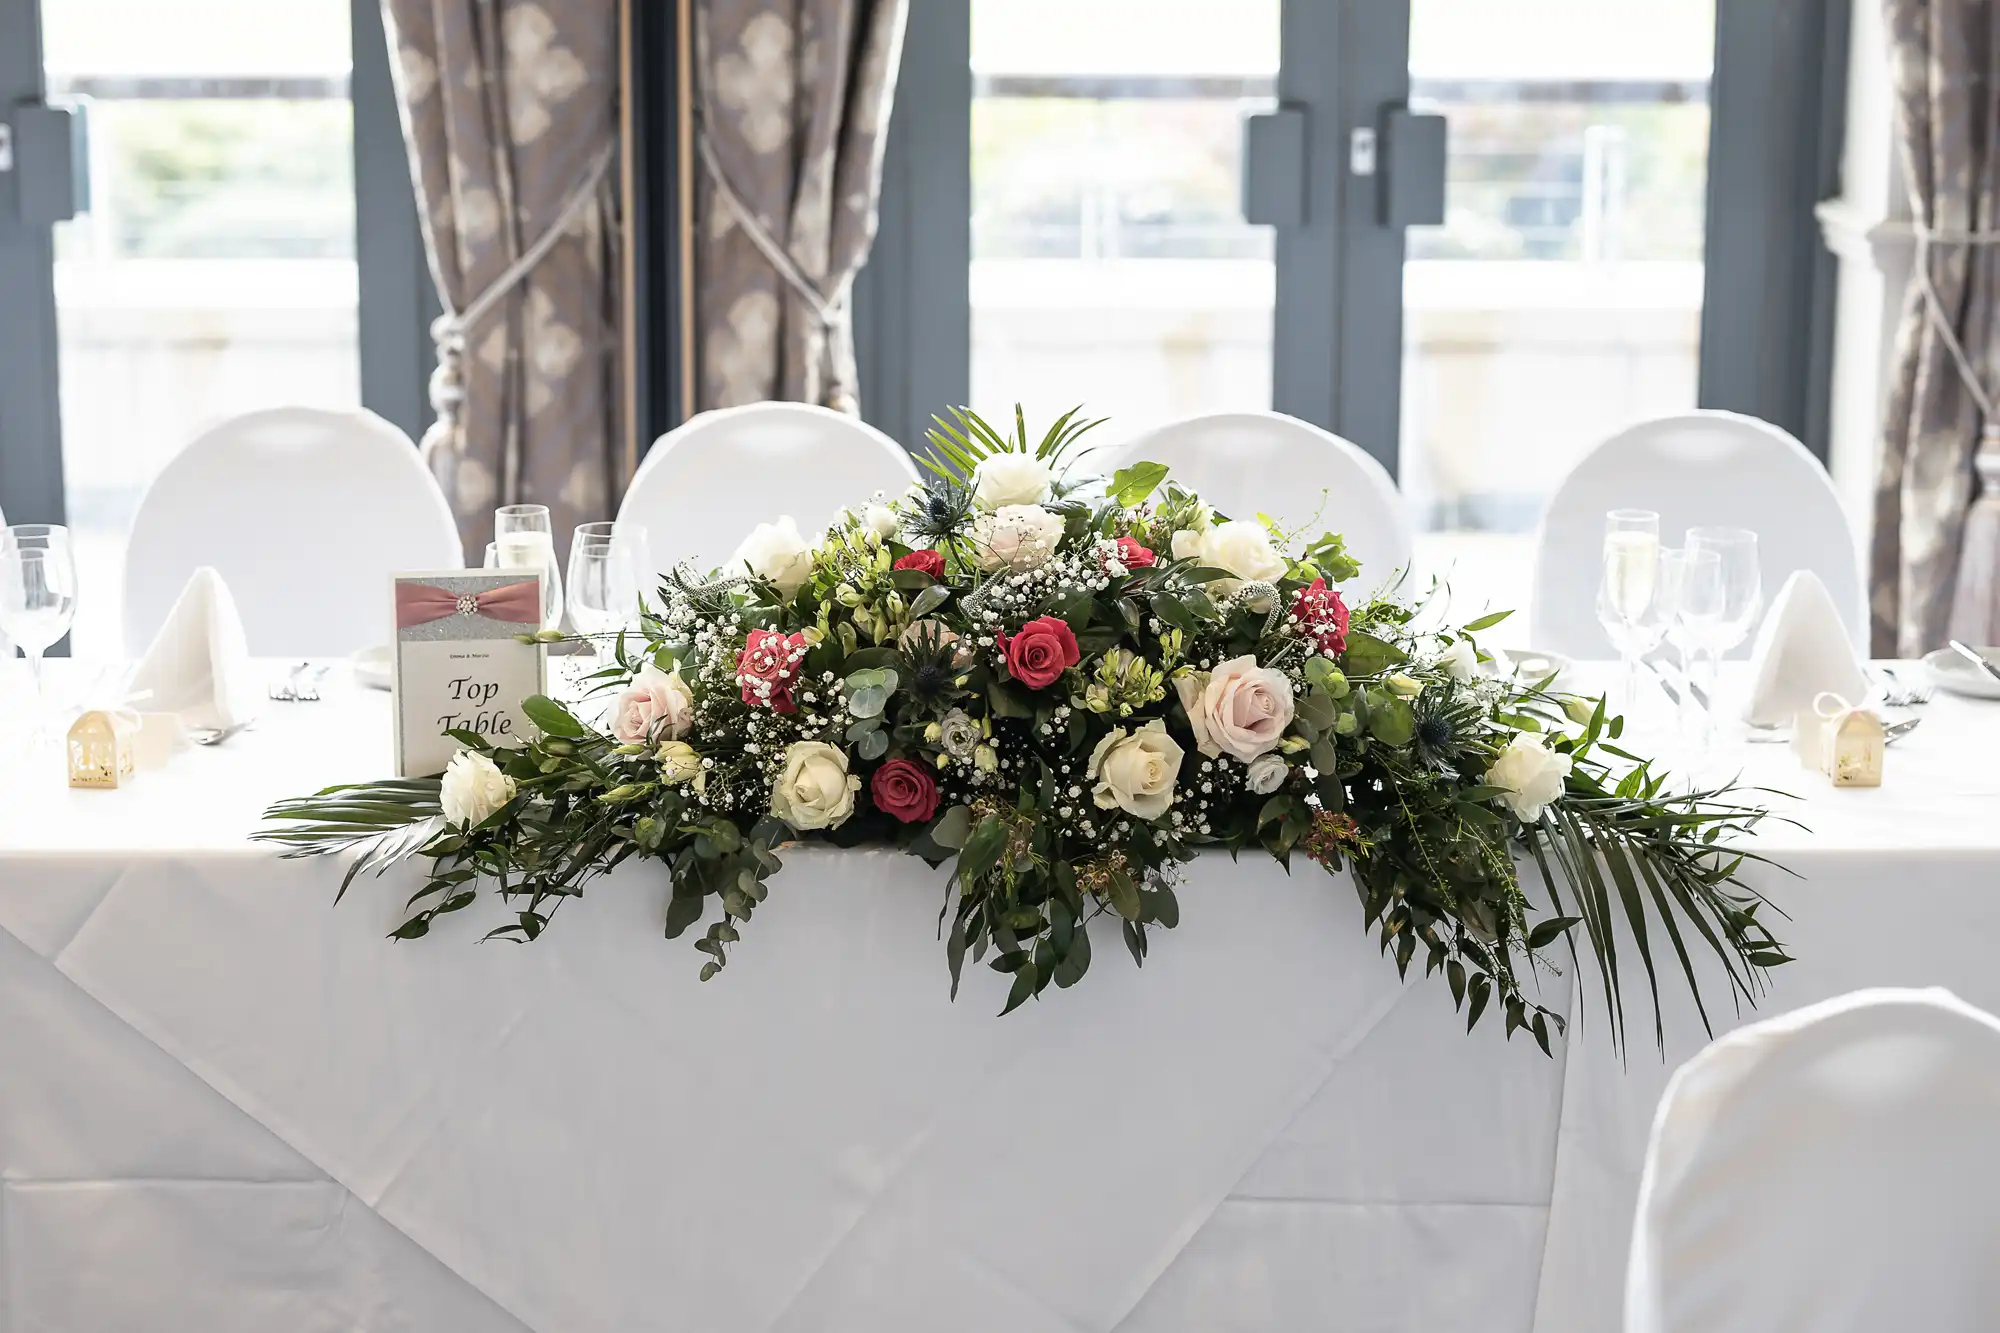
<instances>
[{"instance_id":1,"label":"folded white napkin standing left of the Top Table card","mask_svg":"<svg viewBox=\"0 0 2000 1333\"><path fill-rule=\"evenodd\" d=\"M256 681L236 598L210 566L194 570L128 687L146 713L188 727L236 727L256 713Z\"/></svg>"}]
</instances>

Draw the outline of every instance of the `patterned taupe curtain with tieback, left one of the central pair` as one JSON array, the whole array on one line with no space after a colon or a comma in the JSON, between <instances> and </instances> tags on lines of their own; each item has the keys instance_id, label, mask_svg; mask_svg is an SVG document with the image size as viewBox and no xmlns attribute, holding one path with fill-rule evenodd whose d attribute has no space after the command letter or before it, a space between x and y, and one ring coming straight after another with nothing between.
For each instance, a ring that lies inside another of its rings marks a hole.
<instances>
[{"instance_id":1,"label":"patterned taupe curtain with tieback, left one of the central pair","mask_svg":"<svg viewBox=\"0 0 2000 1333\"><path fill-rule=\"evenodd\" d=\"M496 504L608 518L618 0L382 0L444 318L424 456L468 556Z\"/></svg>"}]
</instances>

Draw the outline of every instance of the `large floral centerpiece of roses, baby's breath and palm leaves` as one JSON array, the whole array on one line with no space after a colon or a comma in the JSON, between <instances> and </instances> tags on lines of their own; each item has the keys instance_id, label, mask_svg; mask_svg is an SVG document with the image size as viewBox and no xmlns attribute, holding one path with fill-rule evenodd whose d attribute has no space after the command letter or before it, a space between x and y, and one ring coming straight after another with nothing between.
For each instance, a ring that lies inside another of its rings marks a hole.
<instances>
[{"instance_id":1,"label":"large floral centerpiece of roses, baby's breath and palm leaves","mask_svg":"<svg viewBox=\"0 0 2000 1333\"><path fill-rule=\"evenodd\" d=\"M1218 514L1152 462L1072 484L1088 424L1034 440L1018 410L1006 436L952 412L908 494L672 570L600 673L608 731L530 699L538 739L454 733L442 779L284 801L260 837L358 851L342 893L428 859L398 939L490 889L490 937L532 941L596 877L660 861L664 931L700 927L704 981L784 845L894 843L948 867L952 995L984 963L1012 977L1002 1013L1076 985L1092 925L1144 963L1178 923L1182 863L1258 851L1348 871L1400 971L1422 959L1468 1027L1498 1005L1544 1051L1562 1017L1532 973L1578 937L1614 1033L1622 939L1654 1001L1662 933L1690 987L1690 947L1708 949L1754 1001L1786 961L1730 851L1758 807L1670 787L1616 747L1602 701L1490 671L1476 634L1498 614L1350 606L1340 536Z\"/></svg>"}]
</instances>

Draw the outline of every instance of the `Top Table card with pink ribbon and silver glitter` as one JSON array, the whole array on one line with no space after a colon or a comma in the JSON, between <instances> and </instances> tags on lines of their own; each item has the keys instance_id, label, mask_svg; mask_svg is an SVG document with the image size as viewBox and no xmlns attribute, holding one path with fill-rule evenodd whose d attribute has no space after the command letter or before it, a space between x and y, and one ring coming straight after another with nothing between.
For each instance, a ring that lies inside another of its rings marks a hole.
<instances>
[{"instance_id":1,"label":"Top Table card with pink ribbon and silver glitter","mask_svg":"<svg viewBox=\"0 0 2000 1333\"><path fill-rule=\"evenodd\" d=\"M548 648L516 634L542 628L542 572L396 574L396 773L430 777L458 753L446 729L520 741L520 705L544 693Z\"/></svg>"}]
</instances>

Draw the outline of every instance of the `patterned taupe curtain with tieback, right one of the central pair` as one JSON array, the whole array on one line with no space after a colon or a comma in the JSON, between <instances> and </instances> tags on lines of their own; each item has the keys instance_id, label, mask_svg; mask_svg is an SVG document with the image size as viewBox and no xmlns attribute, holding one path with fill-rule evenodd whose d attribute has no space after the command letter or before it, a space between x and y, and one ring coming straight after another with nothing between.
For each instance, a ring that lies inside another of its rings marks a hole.
<instances>
[{"instance_id":1,"label":"patterned taupe curtain with tieback, right one of the central pair","mask_svg":"<svg viewBox=\"0 0 2000 1333\"><path fill-rule=\"evenodd\" d=\"M700 406L860 410L868 258L908 0L694 0Z\"/></svg>"}]
</instances>

